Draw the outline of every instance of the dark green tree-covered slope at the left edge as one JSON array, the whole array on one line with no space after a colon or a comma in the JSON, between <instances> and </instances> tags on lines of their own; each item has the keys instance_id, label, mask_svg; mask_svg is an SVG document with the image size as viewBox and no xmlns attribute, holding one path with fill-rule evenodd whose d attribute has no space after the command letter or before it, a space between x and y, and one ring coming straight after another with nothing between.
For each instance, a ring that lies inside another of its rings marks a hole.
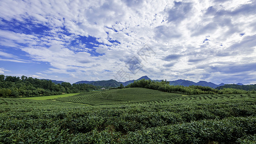
<instances>
[{"instance_id":1,"label":"dark green tree-covered slope at the left edge","mask_svg":"<svg viewBox=\"0 0 256 144\"><path fill-rule=\"evenodd\" d=\"M91 84L70 84L67 82L54 84L48 80L26 76L0 75L0 97L30 97L61 95L63 93L80 93L95 90L97 86Z\"/></svg>"}]
</instances>

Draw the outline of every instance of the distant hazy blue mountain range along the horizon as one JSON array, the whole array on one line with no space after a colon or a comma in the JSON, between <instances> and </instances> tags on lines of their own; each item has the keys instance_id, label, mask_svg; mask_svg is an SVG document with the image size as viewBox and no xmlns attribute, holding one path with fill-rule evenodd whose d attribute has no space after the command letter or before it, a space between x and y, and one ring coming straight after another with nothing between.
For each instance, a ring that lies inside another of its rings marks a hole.
<instances>
[{"instance_id":1,"label":"distant hazy blue mountain range along the horizon","mask_svg":"<svg viewBox=\"0 0 256 144\"><path fill-rule=\"evenodd\" d=\"M136 80L142 80L142 79L151 80L147 76L142 76L142 77L140 77L139 79L136 79ZM49 79L45 79L45 80L49 80ZM79 81L79 82L76 82L74 84L92 84L92 85L98 85L98 86L103 86L103 87L118 87L118 86L120 86L120 84L123 84L124 86L126 86L128 84L132 84L136 80L130 80L130 81L127 81L127 82L117 82L116 80L112 80L112 79L111 80L105 80L105 81ZM61 84L63 82L63 81L55 81L55 80L51 80L51 81L55 84ZM154 80L154 81L159 82L160 80ZM212 87L212 88L216 88L218 86L225 85L223 83L214 84L214 83L206 82L206 81L199 81L199 82L195 83L195 82L192 82L192 81L182 80L182 79L176 80L176 81L169 81L169 82L170 82L170 85L183 85L183 86L200 85L200 86L209 86L209 87ZM238 83L237 85L244 85L244 84Z\"/></svg>"}]
</instances>

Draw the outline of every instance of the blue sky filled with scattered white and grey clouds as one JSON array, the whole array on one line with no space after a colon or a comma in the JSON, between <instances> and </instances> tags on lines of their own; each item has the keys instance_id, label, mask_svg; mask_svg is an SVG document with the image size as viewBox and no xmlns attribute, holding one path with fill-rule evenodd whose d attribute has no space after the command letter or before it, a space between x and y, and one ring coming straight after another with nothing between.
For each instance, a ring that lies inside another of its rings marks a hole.
<instances>
[{"instance_id":1,"label":"blue sky filled with scattered white and grey clouds","mask_svg":"<svg viewBox=\"0 0 256 144\"><path fill-rule=\"evenodd\" d=\"M0 74L256 84L256 0L0 0Z\"/></svg>"}]
</instances>

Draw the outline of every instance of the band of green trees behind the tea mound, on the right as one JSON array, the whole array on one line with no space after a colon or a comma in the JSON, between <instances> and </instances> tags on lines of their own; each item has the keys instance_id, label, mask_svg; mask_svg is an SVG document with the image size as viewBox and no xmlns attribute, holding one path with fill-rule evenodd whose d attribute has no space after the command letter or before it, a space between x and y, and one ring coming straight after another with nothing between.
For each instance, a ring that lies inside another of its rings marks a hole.
<instances>
[{"instance_id":1,"label":"band of green trees behind the tea mound, on the right","mask_svg":"<svg viewBox=\"0 0 256 144\"><path fill-rule=\"evenodd\" d=\"M248 93L256 93L255 91L245 91L242 89L234 89L234 88L223 88L223 89L214 89L207 86L199 86L199 85L170 85L168 81L151 81L151 80L138 80L134 81L134 83L125 86L128 87L143 87L154 90L160 90L163 92L183 94L183 95L200 95L200 94L248 94Z\"/></svg>"}]
</instances>

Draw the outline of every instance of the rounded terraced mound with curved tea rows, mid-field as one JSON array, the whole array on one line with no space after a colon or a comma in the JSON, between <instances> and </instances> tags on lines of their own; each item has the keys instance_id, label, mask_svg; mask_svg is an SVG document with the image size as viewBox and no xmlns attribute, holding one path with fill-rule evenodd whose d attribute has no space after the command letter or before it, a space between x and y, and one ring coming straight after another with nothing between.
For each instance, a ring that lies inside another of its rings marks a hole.
<instances>
[{"instance_id":1,"label":"rounded terraced mound with curved tea rows, mid-field","mask_svg":"<svg viewBox=\"0 0 256 144\"><path fill-rule=\"evenodd\" d=\"M106 91L94 91L76 96L58 98L58 101L82 103L89 105L98 104L126 104L126 103L162 103L168 99L182 96L146 88L125 88Z\"/></svg>"}]
</instances>

